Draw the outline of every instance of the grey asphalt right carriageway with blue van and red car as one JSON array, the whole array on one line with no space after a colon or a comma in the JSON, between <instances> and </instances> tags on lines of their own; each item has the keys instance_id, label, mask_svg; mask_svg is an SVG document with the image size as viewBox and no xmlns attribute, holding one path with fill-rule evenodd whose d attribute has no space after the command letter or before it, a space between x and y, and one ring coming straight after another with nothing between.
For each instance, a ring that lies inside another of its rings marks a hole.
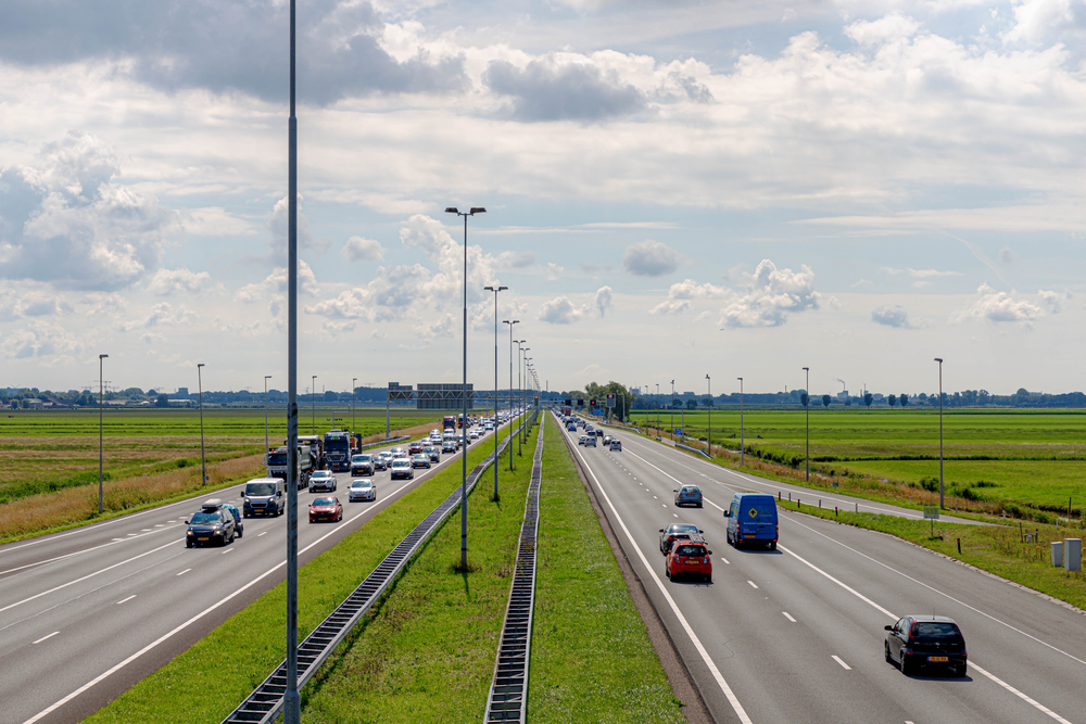
<instances>
[{"instance_id":1,"label":"grey asphalt right carriageway with blue van and red car","mask_svg":"<svg viewBox=\"0 0 1086 724\"><path fill-rule=\"evenodd\" d=\"M566 435L718 722L1086 722L1081 612L892 536L785 511L775 551L736 550L723 518L732 494L786 497L787 486L609 432L622 452ZM680 483L702 487L704 508L673 505ZM793 490L805 501L820 495ZM872 505L832 498L830 507ZM658 531L673 522L704 531L711 584L665 577ZM883 626L915 613L958 622L964 677L906 676L884 660Z\"/></svg>"}]
</instances>

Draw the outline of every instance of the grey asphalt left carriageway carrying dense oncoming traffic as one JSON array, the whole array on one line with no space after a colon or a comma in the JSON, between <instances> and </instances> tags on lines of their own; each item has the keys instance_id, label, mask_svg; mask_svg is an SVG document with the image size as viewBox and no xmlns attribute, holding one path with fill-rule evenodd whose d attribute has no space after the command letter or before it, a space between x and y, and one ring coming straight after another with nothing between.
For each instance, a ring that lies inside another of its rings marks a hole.
<instances>
[{"instance_id":1,"label":"grey asphalt left carriageway carrying dense oncoming traffic","mask_svg":"<svg viewBox=\"0 0 1086 724\"><path fill-rule=\"evenodd\" d=\"M492 445L492 434L480 443ZM310 524L310 501L326 494L299 491L299 563L458 463L443 455L413 480L378 471L376 503L348 503L351 474L337 473L339 523ZM0 722L78 721L286 580L286 516L244 519L243 537L223 547L185 546L185 520L200 504L218 497L240 509L242 487L0 547Z\"/></svg>"}]
</instances>

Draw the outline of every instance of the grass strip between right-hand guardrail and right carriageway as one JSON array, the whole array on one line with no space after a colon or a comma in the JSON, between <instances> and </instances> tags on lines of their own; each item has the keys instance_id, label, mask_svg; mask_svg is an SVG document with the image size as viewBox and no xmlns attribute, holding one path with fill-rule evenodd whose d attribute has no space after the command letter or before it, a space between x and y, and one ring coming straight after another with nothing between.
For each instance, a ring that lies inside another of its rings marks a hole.
<instances>
[{"instance_id":1,"label":"grass strip between right-hand guardrail and right carriageway","mask_svg":"<svg viewBox=\"0 0 1086 724\"><path fill-rule=\"evenodd\" d=\"M528 720L684 722L557 425L543 448Z\"/></svg>"}]
</instances>

